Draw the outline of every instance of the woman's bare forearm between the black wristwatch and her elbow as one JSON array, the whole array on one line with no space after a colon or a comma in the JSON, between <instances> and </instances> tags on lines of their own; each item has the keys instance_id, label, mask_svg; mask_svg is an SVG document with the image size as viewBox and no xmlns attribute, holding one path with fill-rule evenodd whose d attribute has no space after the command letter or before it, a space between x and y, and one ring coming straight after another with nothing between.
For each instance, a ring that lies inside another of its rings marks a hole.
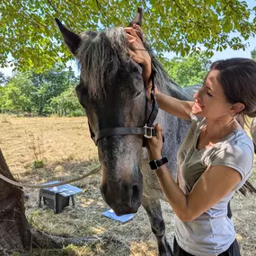
<instances>
[{"instance_id":1,"label":"woman's bare forearm between the black wristwatch and her elbow","mask_svg":"<svg viewBox=\"0 0 256 256\"><path fill-rule=\"evenodd\" d=\"M178 184L173 181L172 176L165 165L155 171L157 179L161 185L163 193L172 206L175 214L181 221L190 221L190 208L188 207L188 198L180 189Z\"/></svg>"}]
</instances>

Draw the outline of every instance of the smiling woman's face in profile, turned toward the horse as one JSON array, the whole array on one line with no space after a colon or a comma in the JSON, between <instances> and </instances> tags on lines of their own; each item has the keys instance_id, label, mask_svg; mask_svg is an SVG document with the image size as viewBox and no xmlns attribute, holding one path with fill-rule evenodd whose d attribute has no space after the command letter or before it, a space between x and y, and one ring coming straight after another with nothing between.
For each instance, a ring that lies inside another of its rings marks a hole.
<instances>
[{"instance_id":1,"label":"smiling woman's face in profile, turned toward the horse","mask_svg":"<svg viewBox=\"0 0 256 256\"><path fill-rule=\"evenodd\" d=\"M232 104L227 102L222 85L217 81L218 70L211 70L204 85L195 93L192 113L207 119L222 119L229 115Z\"/></svg>"}]
</instances>

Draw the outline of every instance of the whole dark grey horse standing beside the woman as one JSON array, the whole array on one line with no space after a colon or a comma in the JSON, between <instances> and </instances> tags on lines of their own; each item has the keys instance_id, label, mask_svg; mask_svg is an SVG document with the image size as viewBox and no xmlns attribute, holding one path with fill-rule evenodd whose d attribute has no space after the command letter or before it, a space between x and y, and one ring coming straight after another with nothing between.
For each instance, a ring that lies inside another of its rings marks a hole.
<instances>
[{"instance_id":1,"label":"whole dark grey horse standing beside the woman","mask_svg":"<svg viewBox=\"0 0 256 256\"><path fill-rule=\"evenodd\" d=\"M81 66L76 93L86 110L91 137L98 147L102 198L118 216L136 213L142 205L156 237L159 255L172 256L160 205L160 199L166 199L149 167L144 147L144 137L150 137L153 132L146 123L155 106L146 98L143 66L129 57L123 28L85 31L77 35L59 20L56 22L66 46ZM141 9L129 26L133 23L142 26ZM154 84L158 90L180 100L192 101L201 85L181 88L167 75L146 42L145 47L152 57ZM176 179L176 154L190 128L190 121L159 110L152 122L161 123L163 127L163 156L168 158L167 167Z\"/></svg>"}]
</instances>

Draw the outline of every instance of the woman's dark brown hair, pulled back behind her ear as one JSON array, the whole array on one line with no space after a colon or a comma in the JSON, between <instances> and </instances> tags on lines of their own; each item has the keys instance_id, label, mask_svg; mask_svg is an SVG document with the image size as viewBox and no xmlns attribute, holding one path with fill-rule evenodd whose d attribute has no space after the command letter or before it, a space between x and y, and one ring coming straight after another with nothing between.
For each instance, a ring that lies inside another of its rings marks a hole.
<instances>
[{"instance_id":1,"label":"woman's dark brown hair, pulled back behind her ear","mask_svg":"<svg viewBox=\"0 0 256 256\"><path fill-rule=\"evenodd\" d=\"M227 101L244 104L236 119L246 123L245 116L256 117L256 62L251 58L234 57L218 60L210 69L219 71L217 80Z\"/></svg>"}]
</instances>

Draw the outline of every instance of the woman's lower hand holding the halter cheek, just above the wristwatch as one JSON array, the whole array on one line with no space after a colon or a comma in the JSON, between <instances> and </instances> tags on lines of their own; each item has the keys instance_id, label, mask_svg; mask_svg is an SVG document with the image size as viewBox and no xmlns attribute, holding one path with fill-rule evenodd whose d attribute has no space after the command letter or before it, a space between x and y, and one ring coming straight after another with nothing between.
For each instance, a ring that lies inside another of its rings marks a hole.
<instances>
[{"instance_id":1,"label":"woman's lower hand holding the halter cheek, just above the wristwatch","mask_svg":"<svg viewBox=\"0 0 256 256\"><path fill-rule=\"evenodd\" d=\"M154 129L156 137L146 139L146 149L150 160L159 160L162 158L163 128L160 124L156 124Z\"/></svg>"}]
</instances>

